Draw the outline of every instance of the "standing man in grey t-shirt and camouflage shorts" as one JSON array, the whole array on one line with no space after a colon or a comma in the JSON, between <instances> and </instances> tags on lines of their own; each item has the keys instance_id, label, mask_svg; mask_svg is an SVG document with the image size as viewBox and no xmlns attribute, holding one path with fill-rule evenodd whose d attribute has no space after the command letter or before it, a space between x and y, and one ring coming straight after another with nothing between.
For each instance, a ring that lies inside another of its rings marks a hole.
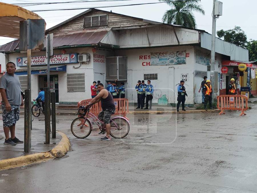
<instances>
[{"instance_id":1,"label":"standing man in grey t-shirt and camouflage shorts","mask_svg":"<svg viewBox=\"0 0 257 193\"><path fill-rule=\"evenodd\" d=\"M5 132L5 145L23 143L15 137L15 124L20 118L20 105L23 106L21 96L21 83L19 77L14 74L15 64L6 64L6 73L0 79L0 93L2 96L3 128ZM9 136L11 132L11 138Z\"/></svg>"}]
</instances>

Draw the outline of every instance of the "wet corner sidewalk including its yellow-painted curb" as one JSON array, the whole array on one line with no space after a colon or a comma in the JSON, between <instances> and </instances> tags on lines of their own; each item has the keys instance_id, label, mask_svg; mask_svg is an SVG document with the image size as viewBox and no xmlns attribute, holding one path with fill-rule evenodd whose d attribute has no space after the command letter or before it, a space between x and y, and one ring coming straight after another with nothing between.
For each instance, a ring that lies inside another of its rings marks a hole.
<instances>
[{"instance_id":1,"label":"wet corner sidewalk including its yellow-painted curb","mask_svg":"<svg viewBox=\"0 0 257 193\"><path fill-rule=\"evenodd\" d=\"M55 139L50 134L50 144L44 144L45 124L40 121L32 122L30 153L24 153L24 144L4 145L5 135L2 129L0 131L0 170L61 158L70 148L69 139L61 132L56 133ZM23 115L16 124L15 136L24 140Z\"/></svg>"}]
</instances>

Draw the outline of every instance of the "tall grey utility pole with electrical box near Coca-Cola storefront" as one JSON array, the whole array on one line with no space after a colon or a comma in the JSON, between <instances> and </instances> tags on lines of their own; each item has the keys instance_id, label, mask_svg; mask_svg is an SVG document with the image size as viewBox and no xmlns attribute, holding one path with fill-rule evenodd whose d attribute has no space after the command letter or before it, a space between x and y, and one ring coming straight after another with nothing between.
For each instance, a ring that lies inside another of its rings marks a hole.
<instances>
[{"instance_id":1,"label":"tall grey utility pole with electrical box near Coca-Cola storefront","mask_svg":"<svg viewBox=\"0 0 257 193\"><path fill-rule=\"evenodd\" d=\"M212 82L212 86L214 86L214 69L215 69L215 38L216 38L216 17L214 15L214 7L215 1L213 0L213 9L212 9L212 47L211 47L211 73L210 73L210 81Z\"/></svg>"}]
</instances>

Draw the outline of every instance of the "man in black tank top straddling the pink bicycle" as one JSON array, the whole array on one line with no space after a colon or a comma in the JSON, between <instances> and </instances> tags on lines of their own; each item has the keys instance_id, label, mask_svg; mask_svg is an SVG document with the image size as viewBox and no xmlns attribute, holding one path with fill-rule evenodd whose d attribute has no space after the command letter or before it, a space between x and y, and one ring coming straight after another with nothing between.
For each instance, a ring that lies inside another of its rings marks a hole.
<instances>
[{"instance_id":1,"label":"man in black tank top straddling the pink bicycle","mask_svg":"<svg viewBox=\"0 0 257 193\"><path fill-rule=\"evenodd\" d=\"M99 90L99 94L93 98L93 100L86 106L88 107L91 104L98 103L101 101L102 111L98 114L98 118L105 123L106 128L106 136L101 138L102 141L111 140L110 130L111 130L111 115L115 113L115 104L113 101L113 96L109 91L104 88L102 83L97 85L97 89ZM102 134L104 131L100 132Z\"/></svg>"}]
</instances>

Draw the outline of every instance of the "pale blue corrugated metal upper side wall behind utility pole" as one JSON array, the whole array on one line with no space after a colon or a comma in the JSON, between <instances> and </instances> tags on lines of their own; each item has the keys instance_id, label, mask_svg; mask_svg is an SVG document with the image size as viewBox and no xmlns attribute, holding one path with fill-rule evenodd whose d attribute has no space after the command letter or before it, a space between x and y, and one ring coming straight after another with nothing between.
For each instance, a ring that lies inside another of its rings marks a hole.
<instances>
[{"instance_id":1,"label":"pale blue corrugated metal upper side wall behind utility pole","mask_svg":"<svg viewBox=\"0 0 257 193\"><path fill-rule=\"evenodd\" d=\"M211 50L212 35L201 32L201 47ZM248 61L248 49L244 49L240 46L236 46L232 43L228 43L216 37L215 45L216 53L230 56L230 60L234 61Z\"/></svg>"}]
</instances>

